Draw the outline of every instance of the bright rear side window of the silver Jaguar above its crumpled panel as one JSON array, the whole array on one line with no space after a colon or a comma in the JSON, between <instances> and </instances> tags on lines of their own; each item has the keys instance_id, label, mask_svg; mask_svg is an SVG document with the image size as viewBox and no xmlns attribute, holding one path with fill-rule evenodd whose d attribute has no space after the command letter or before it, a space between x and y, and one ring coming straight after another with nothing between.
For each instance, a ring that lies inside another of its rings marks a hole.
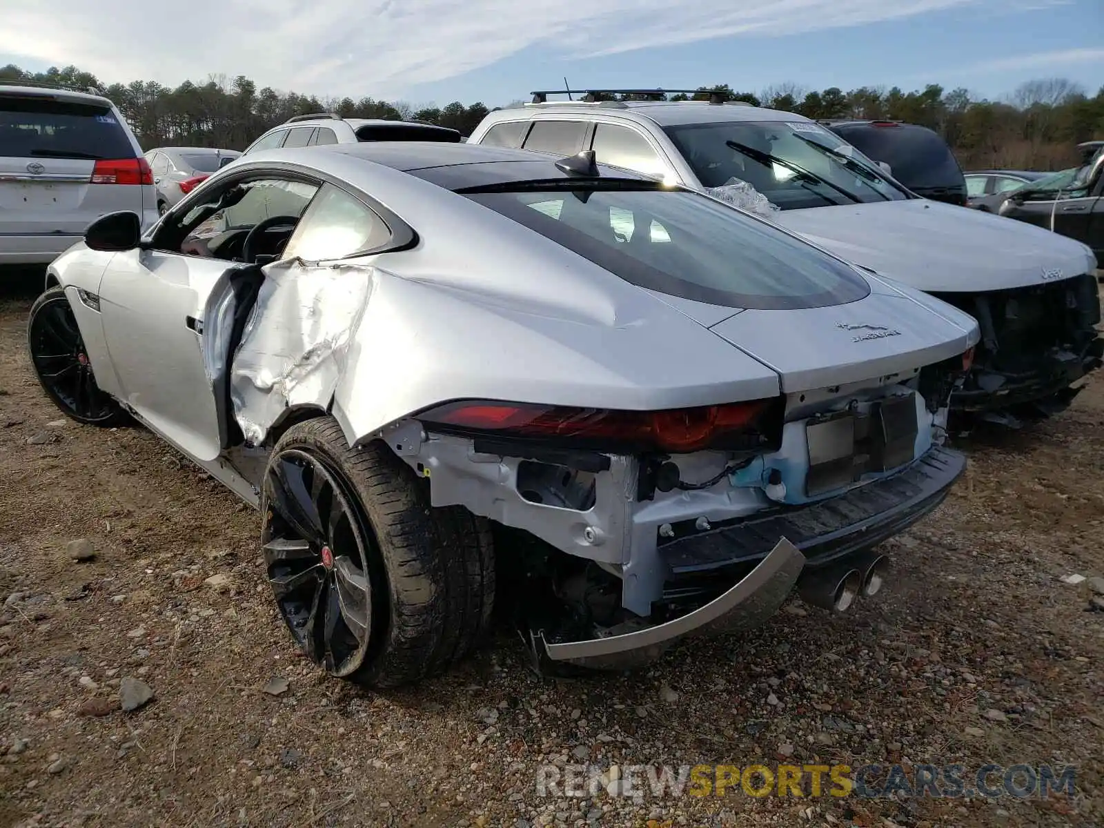
<instances>
[{"instance_id":1,"label":"bright rear side window of the silver Jaguar above its crumpled panel","mask_svg":"<svg viewBox=\"0 0 1104 828\"><path fill-rule=\"evenodd\" d=\"M359 199L323 184L288 240L282 258L342 258L386 243L391 229Z\"/></svg>"}]
</instances>

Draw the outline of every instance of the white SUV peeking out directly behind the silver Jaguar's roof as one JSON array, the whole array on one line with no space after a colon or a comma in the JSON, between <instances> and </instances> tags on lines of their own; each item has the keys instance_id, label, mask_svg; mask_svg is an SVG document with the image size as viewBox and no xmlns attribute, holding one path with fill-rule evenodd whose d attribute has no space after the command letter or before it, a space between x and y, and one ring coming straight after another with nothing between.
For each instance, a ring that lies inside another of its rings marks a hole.
<instances>
[{"instance_id":1,"label":"white SUV peeking out directly behind the silver Jaguar's roof","mask_svg":"<svg viewBox=\"0 0 1104 828\"><path fill-rule=\"evenodd\" d=\"M460 144L456 129L412 120L342 118L333 113L296 115L273 127L246 148L244 155L279 147L314 147L360 141L445 141Z\"/></svg>"}]
</instances>

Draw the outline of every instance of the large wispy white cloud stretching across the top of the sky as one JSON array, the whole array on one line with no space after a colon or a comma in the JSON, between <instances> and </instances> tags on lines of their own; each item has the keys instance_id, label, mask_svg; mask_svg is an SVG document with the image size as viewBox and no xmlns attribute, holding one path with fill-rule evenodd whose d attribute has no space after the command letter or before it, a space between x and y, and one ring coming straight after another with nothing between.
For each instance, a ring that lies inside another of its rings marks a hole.
<instances>
[{"instance_id":1,"label":"large wispy white cloud stretching across the top of the sky","mask_svg":"<svg viewBox=\"0 0 1104 828\"><path fill-rule=\"evenodd\" d=\"M1066 0L1019 0L1032 7ZM0 53L105 82L244 74L261 86L394 97L528 46L569 57L776 36L1007 0L4 0ZM360 92L358 92L360 91Z\"/></svg>"}]
</instances>

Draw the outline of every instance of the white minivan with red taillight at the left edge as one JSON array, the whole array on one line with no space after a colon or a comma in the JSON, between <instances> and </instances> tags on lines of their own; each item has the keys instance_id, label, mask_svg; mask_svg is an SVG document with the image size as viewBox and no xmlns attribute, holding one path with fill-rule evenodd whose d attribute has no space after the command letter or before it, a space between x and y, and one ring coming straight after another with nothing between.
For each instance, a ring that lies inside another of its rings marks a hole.
<instances>
[{"instance_id":1,"label":"white minivan with red taillight at the left edge","mask_svg":"<svg viewBox=\"0 0 1104 828\"><path fill-rule=\"evenodd\" d=\"M119 210L157 220L149 164L115 104L0 82L0 265L51 262Z\"/></svg>"}]
</instances>

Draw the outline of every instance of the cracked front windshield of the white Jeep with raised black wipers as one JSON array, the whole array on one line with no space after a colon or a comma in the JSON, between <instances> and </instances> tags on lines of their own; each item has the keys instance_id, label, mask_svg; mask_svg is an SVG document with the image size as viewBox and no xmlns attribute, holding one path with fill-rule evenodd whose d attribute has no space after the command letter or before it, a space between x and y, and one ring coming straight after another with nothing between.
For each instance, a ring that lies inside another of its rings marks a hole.
<instances>
[{"instance_id":1,"label":"cracked front windshield of the white Jeep with raised black wipers","mask_svg":"<svg viewBox=\"0 0 1104 828\"><path fill-rule=\"evenodd\" d=\"M782 210L911 198L869 158L809 121L729 121L667 127L698 180L737 179Z\"/></svg>"}]
</instances>

